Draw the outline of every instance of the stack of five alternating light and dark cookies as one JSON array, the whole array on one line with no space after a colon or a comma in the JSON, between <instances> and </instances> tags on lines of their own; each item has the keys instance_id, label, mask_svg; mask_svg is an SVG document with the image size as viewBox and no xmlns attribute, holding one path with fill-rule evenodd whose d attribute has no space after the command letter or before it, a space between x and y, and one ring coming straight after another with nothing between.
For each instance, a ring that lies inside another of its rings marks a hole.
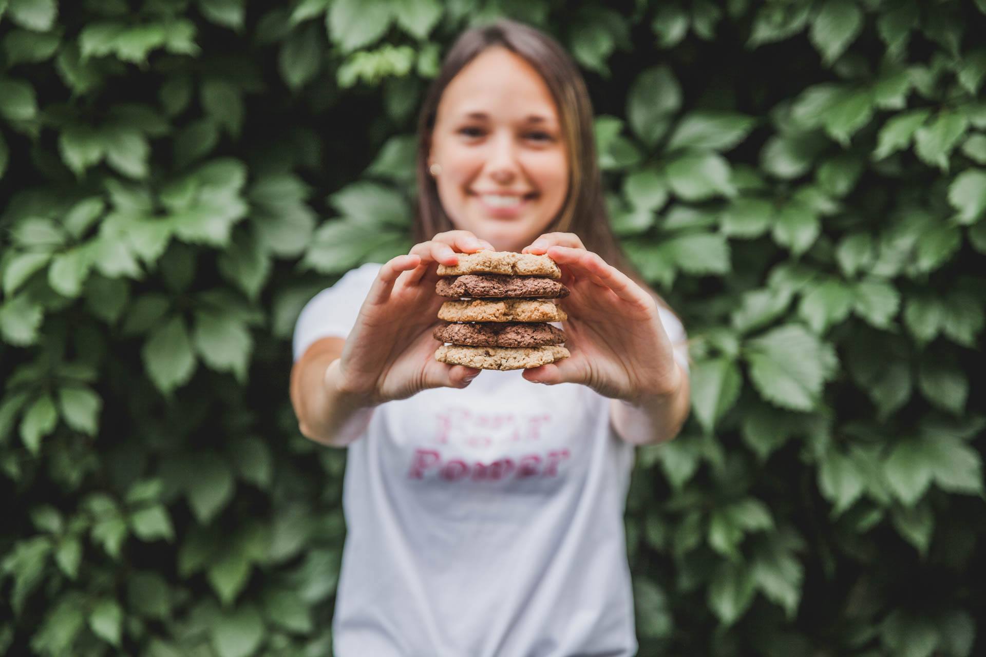
<instances>
[{"instance_id":1,"label":"stack of five alternating light and dark cookies","mask_svg":"<svg viewBox=\"0 0 986 657\"><path fill-rule=\"evenodd\" d=\"M567 359L565 333L548 322L568 319L553 299L568 296L561 271L546 255L512 251L458 253L439 265L442 304L435 359L480 369L521 369Z\"/></svg>"}]
</instances>

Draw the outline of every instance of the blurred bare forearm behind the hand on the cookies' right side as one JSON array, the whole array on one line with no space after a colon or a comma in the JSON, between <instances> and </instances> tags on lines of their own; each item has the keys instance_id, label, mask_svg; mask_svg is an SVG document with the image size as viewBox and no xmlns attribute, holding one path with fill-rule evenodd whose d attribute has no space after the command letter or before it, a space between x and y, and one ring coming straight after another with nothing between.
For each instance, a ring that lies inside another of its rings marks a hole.
<instances>
[{"instance_id":1,"label":"blurred bare forearm behind the hand on the cookies' right side","mask_svg":"<svg viewBox=\"0 0 986 657\"><path fill-rule=\"evenodd\" d=\"M612 426L622 439L635 445L667 442L681 430L688 419L690 387L688 373L675 366L680 376L674 390L636 402L610 400Z\"/></svg>"}]
</instances>

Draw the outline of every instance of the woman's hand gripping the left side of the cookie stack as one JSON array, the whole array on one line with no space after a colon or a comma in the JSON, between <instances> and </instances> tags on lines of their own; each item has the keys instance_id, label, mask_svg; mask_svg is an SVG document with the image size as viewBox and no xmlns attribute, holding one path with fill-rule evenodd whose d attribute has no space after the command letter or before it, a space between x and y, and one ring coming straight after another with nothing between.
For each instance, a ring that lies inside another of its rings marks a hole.
<instances>
[{"instance_id":1,"label":"woman's hand gripping the left side of the cookie stack","mask_svg":"<svg viewBox=\"0 0 986 657\"><path fill-rule=\"evenodd\" d=\"M427 388L468 385L479 369L435 360L441 343L432 331L445 300L435 285L439 264L456 265L457 253L483 248L493 246L468 230L449 230L387 261L346 338L338 363L340 390L381 404Z\"/></svg>"}]
</instances>

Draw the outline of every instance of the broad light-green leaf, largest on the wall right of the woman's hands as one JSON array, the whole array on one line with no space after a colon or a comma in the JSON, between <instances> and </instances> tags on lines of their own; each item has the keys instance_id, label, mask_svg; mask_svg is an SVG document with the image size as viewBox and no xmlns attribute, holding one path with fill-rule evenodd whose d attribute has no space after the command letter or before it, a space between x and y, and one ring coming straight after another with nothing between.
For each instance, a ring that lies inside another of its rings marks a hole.
<instances>
[{"instance_id":1,"label":"broad light-green leaf, largest on the wall right of the woman's hands","mask_svg":"<svg viewBox=\"0 0 986 657\"><path fill-rule=\"evenodd\" d=\"M760 395L793 411L810 411L818 404L822 385L837 366L832 348L796 324L750 340L744 354Z\"/></svg>"}]
</instances>

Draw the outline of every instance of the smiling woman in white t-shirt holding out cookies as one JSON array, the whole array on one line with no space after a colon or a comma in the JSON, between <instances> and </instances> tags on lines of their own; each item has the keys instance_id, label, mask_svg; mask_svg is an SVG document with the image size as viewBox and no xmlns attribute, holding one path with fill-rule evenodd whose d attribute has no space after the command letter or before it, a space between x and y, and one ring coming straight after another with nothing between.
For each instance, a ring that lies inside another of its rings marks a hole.
<instances>
[{"instance_id":1,"label":"smiling woman in white t-shirt holding out cookies","mask_svg":"<svg viewBox=\"0 0 986 657\"><path fill-rule=\"evenodd\" d=\"M421 111L419 243L347 273L298 320L301 430L349 448L341 657L636 651L623 509L634 445L687 415L685 336L608 264L629 271L592 129L553 39L509 21L463 33ZM571 358L435 360L437 264L481 248L559 264Z\"/></svg>"}]
</instances>

